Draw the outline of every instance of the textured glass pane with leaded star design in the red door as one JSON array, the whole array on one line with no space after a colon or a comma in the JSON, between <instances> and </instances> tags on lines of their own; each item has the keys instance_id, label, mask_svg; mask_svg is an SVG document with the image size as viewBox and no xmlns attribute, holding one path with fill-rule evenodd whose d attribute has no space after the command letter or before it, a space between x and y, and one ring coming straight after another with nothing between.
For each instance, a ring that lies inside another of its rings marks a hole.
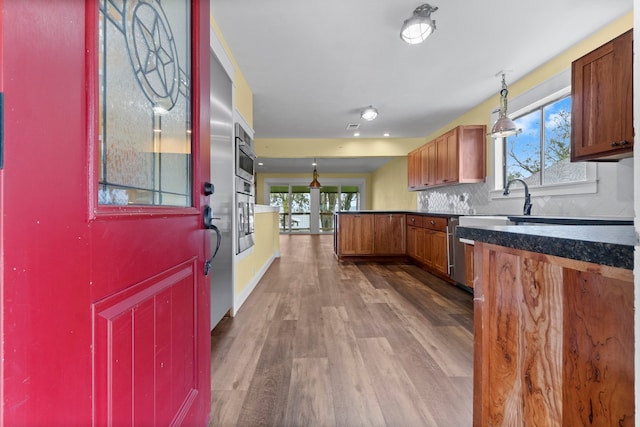
<instances>
[{"instance_id":1,"label":"textured glass pane with leaded star design in the red door","mask_svg":"<svg viewBox=\"0 0 640 427\"><path fill-rule=\"evenodd\" d=\"M102 205L191 206L188 0L101 0Z\"/></svg>"}]
</instances>

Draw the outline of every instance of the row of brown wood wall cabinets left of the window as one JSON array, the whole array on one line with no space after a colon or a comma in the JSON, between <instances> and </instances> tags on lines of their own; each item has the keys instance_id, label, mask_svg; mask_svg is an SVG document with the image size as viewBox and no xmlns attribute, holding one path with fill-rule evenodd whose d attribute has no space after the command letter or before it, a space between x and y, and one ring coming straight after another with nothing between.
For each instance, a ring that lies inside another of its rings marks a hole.
<instances>
[{"instance_id":1,"label":"row of brown wood wall cabinets left of the window","mask_svg":"<svg viewBox=\"0 0 640 427\"><path fill-rule=\"evenodd\" d=\"M458 126L409 153L410 191L456 183L483 182L486 176L486 126ZM416 171L421 153L420 173ZM418 180L420 176L420 180Z\"/></svg>"}]
</instances>

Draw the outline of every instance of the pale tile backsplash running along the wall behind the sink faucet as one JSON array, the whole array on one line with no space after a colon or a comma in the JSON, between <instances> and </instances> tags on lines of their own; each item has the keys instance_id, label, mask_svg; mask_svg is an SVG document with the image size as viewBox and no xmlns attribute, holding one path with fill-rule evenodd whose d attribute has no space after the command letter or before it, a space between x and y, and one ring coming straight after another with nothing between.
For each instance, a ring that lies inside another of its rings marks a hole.
<instances>
[{"instance_id":1,"label":"pale tile backsplash running along the wall behind the sink faucet","mask_svg":"<svg viewBox=\"0 0 640 427\"><path fill-rule=\"evenodd\" d=\"M532 215L633 217L633 159L598 163L597 193L536 196ZM418 210L456 214L522 214L522 196L490 199L489 183L459 184L418 193Z\"/></svg>"}]
</instances>

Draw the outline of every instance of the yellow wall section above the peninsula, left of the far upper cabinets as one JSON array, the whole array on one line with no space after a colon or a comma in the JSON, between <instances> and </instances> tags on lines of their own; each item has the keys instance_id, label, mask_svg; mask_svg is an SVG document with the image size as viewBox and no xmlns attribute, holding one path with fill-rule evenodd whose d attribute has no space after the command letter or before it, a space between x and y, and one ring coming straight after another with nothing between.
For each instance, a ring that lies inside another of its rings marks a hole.
<instances>
[{"instance_id":1,"label":"yellow wall section above the peninsula, left of the far upper cabinets","mask_svg":"<svg viewBox=\"0 0 640 427\"><path fill-rule=\"evenodd\" d=\"M371 176L371 209L416 210L418 193L407 187L407 157L389 161Z\"/></svg>"}]
</instances>

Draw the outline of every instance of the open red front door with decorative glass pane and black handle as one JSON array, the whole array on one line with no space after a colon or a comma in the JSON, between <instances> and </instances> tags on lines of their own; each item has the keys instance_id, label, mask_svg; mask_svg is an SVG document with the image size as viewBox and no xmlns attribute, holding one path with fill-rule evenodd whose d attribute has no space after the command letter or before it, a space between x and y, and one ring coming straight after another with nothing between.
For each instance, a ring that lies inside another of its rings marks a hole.
<instances>
[{"instance_id":1,"label":"open red front door with decorative glass pane and black handle","mask_svg":"<svg viewBox=\"0 0 640 427\"><path fill-rule=\"evenodd\" d=\"M209 2L181 3L0 0L1 425L207 423ZM136 83L115 102L99 32Z\"/></svg>"}]
</instances>

